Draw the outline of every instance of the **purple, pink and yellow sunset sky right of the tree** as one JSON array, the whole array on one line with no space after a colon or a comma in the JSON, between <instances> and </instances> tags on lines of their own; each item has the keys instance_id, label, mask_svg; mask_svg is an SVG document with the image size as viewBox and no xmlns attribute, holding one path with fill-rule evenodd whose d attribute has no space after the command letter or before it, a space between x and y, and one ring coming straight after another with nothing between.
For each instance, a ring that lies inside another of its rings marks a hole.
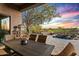
<instances>
[{"instance_id":1,"label":"purple, pink and yellow sunset sky right of the tree","mask_svg":"<svg viewBox=\"0 0 79 59\"><path fill-rule=\"evenodd\" d=\"M49 24L44 23L43 28L74 28L79 27L79 4L78 3L49 3L56 7L56 13L61 17L52 18Z\"/></svg>"}]
</instances>

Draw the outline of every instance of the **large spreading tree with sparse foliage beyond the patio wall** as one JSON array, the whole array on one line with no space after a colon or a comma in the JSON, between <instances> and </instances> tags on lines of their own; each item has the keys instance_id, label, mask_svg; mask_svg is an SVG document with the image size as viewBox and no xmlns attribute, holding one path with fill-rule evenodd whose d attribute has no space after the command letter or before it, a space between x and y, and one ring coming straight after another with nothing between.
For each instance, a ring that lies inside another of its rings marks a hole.
<instances>
[{"instance_id":1,"label":"large spreading tree with sparse foliage beyond the patio wall","mask_svg":"<svg viewBox=\"0 0 79 59\"><path fill-rule=\"evenodd\" d=\"M27 25L27 31L29 32L30 25L32 24L42 24L43 22L49 22L51 18L58 17L56 14L56 8L54 6L49 6L48 4L44 4L41 8L31 8L30 10L26 10L26 14L23 16L25 19L25 23Z\"/></svg>"}]
</instances>

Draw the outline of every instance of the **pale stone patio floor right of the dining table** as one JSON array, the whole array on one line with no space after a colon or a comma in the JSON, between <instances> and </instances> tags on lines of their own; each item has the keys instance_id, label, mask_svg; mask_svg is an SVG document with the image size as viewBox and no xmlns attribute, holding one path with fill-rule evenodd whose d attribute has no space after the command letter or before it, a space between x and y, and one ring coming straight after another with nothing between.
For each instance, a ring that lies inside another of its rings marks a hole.
<instances>
[{"instance_id":1,"label":"pale stone patio floor right of the dining table","mask_svg":"<svg viewBox=\"0 0 79 59\"><path fill-rule=\"evenodd\" d=\"M69 42L73 44L76 54L79 55L79 40L52 38L52 36L48 36L46 40L46 44L55 45L55 48L51 53L53 55L60 53Z\"/></svg>"}]
</instances>

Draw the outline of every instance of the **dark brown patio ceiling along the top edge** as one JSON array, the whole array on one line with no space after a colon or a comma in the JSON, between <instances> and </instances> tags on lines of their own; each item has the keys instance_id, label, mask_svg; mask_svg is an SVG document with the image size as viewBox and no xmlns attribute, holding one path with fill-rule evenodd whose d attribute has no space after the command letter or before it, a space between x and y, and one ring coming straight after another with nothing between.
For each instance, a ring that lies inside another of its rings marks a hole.
<instances>
[{"instance_id":1,"label":"dark brown patio ceiling along the top edge","mask_svg":"<svg viewBox=\"0 0 79 59\"><path fill-rule=\"evenodd\" d=\"M8 7L16 9L18 11L22 11L24 9L36 7L38 5L41 5L43 3L8 3L6 4Z\"/></svg>"}]
</instances>

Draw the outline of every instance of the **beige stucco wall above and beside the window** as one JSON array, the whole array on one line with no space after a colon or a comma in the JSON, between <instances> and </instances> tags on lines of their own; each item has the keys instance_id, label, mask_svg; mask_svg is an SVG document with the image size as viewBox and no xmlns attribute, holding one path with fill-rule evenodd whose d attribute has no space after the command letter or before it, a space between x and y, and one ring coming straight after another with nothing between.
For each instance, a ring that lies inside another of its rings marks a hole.
<instances>
[{"instance_id":1,"label":"beige stucco wall above and beside the window","mask_svg":"<svg viewBox=\"0 0 79 59\"><path fill-rule=\"evenodd\" d=\"M7 7L5 4L0 4L0 14L11 16L11 31L13 26L21 24L21 12ZM11 32L12 33L12 32Z\"/></svg>"}]
</instances>

